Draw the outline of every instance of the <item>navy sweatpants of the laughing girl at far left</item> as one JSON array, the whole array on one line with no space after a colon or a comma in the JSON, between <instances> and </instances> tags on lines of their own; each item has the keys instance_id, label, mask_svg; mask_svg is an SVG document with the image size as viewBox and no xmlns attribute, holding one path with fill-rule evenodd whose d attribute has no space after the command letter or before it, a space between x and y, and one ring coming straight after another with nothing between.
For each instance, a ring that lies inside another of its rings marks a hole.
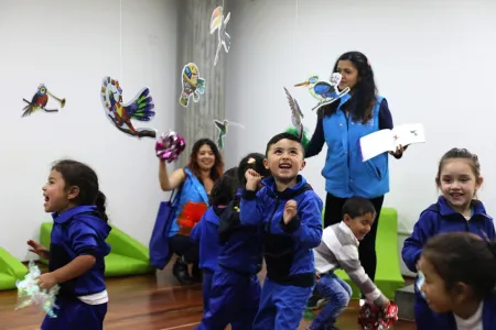
<instances>
[{"instance_id":1,"label":"navy sweatpants of the laughing girl at far left","mask_svg":"<svg viewBox=\"0 0 496 330\"><path fill-rule=\"evenodd\" d=\"M103 330L107 314L107 302L88 305L76 297L57 298L56 318L45 317L41 330Z\"/></svg>"}]
</instances>

